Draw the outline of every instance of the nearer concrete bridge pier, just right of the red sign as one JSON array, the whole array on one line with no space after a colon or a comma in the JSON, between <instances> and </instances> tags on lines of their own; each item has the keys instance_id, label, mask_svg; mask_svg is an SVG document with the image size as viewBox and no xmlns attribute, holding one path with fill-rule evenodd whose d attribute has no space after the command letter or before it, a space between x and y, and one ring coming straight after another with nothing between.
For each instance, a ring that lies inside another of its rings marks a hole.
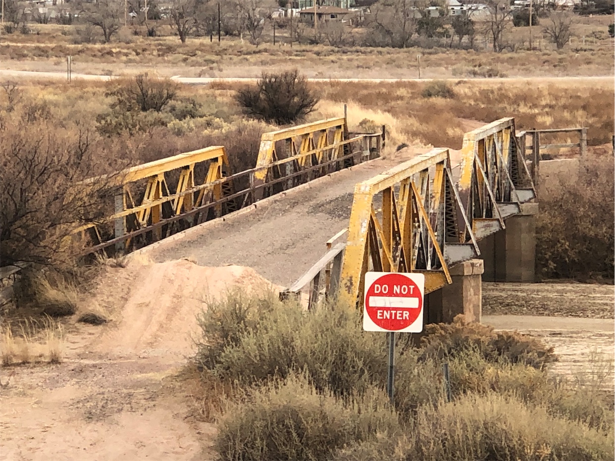
<instances>
[{"instance_id":1,"label":"nearer concrete bridge pier, just right of the red sign","mask_svg":"<svg viewBox=\"0 0 615 461\"><path fill-rule=\"evenodd\" d=\"M427 294L424 323L451 323L458 314L480 322L482 310L482 259L470 259L450 268L453 283Z\"/></svg>"}]
</instances>

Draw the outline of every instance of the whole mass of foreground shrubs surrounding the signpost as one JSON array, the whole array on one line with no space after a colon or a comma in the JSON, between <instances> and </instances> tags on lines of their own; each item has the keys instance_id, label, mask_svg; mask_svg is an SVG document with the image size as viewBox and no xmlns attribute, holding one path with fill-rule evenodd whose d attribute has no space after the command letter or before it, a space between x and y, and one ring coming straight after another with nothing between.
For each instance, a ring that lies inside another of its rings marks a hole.
<instances>
[{"instance_id":1,"label":"whole mass of foreground shrubs surrounding the signpost","mask_svg":"<svg viewBox=\"0 0 615 461\"><path fill-rule=\"evenodd\" d=\"M362 331L354 309L234 291L200 326L197 401L221 459L613 457L612 397L598 384L609 377L553 376L554 351L530 337L461 317L427 326L419 347L400 334L391 403L386 336Z\"/></svg>"}]
</instances>

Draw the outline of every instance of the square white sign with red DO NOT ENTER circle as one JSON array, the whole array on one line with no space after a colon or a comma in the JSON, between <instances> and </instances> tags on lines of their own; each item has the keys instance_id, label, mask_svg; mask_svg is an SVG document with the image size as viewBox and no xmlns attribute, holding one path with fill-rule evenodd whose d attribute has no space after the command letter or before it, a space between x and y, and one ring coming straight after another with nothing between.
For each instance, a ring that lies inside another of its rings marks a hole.
<instances>
[{"instance_id":1,"label":"square white sign with red DO NOT ENTER circle","mask_svg":"<svg viewBox=\"0 0 615 461\"><path fill-rule=\"evenodd\" d=\"M424 290L423 274L367 272L363 329L420 333Z\"/></svg>"}]
</instances>

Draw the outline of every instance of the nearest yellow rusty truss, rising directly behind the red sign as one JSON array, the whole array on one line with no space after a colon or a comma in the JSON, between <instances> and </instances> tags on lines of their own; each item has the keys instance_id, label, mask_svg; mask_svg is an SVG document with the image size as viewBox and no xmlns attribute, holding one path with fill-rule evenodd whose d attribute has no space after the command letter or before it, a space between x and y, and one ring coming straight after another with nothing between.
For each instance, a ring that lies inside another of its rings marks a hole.
<instances>
[{"instance_id":1,"label":"nearest yellow rusty truss, rising directly behind the red sign","mask_svg":"<svg viewBox=\"0 0 615 461\"><path fill-rule=\"evenodd\" d=\"M368 270L422 272L426 293L451 283L448 267L479 254L471 230L469 243L459 240L458 215L469 225L460 205L448 149L357 184L338 296L351 305L362 299Z\"/></svg>"}]
</instances>

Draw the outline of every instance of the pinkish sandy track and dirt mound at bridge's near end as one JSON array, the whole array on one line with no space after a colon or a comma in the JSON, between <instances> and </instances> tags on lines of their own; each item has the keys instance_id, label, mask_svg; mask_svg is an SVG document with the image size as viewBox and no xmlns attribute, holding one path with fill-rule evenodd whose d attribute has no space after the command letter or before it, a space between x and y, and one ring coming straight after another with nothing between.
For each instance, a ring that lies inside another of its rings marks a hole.
<instances>
[{"instance_id":1,"label":"pinkish sandy track and dirt mound at bridge's near end","mask_svg":"<svg viewBox=\"0 0 615 461\"><path fill-rule=\"evenodd\" d=\"M68 325L63 363L0 369L0 460L207 460L215 428L183 385L204 300L270 286L245 267L180 260L108 268L83 308L112 319Z\"/></svg>"}]
</instances>

